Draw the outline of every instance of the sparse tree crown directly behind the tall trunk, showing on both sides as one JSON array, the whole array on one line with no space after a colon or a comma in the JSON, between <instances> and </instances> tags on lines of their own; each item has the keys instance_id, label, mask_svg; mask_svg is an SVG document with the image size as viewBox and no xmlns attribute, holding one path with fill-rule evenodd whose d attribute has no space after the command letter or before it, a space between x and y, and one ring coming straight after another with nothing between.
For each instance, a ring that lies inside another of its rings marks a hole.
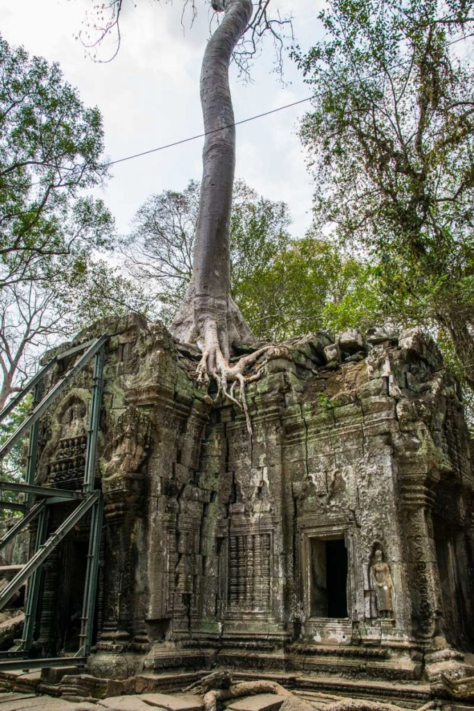
<instances>
[{"instance_id":1,"label":"sparse tree crown directly behind the tall trunk, showing on both sides","mask_svg":"<svg viewBox=\"0 0 474 711\"><path fill-rule=\"evenodd\" d=\"M137 284L156 301L156 315L169 323L193 273L195 225L200 183L182 193L151 196L136 213L134 230L124 240L126 264ZM252 301L266 269L289 241L285 203L257 196L236 181L230 223L231 288L238 304Z\"/></svg>"}]
</instances>

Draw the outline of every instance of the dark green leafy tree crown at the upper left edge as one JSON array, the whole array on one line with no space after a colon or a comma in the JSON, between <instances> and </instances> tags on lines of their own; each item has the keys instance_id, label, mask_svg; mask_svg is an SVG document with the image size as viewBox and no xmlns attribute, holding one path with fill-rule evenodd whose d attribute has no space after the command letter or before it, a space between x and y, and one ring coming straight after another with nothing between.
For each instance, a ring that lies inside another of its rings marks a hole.
<instances>
[{"instance_id":1,"label":"dark green leafy tree crown at the upper left edge","mask_svg":"<svg viewBox=\"0 0 474 711\"><path fill-rule=\"evenodd\" d=\"M81 274L113 220L83 191L102 183L102 117L57 64L0 38L0 286Z\"/></svg>"}]
</instances>

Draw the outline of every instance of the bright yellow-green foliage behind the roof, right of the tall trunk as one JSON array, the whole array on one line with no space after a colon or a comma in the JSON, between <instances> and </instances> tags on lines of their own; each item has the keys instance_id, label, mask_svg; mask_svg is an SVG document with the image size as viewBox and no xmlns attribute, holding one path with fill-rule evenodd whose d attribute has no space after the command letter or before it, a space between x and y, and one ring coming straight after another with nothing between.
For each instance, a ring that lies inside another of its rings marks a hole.
<instances>
[{"instance_id":1,"label":"bright yellow-green foliage behind the roof, right of the tall trunk","mask_svg":"<svg viewBox=\"0 0 474 711\"><path fill-rule=\"evenodd\" d=\"M289 242L237 300L259 338L279 341L318 329L365 328L379 321L370 265L308 233Z\"/></svg>"}]
</instances>

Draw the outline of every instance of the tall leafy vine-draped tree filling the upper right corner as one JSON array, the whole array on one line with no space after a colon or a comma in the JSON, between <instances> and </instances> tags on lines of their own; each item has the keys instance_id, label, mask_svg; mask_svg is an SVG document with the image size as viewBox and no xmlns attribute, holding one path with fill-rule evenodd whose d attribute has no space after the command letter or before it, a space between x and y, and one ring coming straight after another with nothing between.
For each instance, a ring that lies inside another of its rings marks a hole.
<instances>
[{"instance_id":1,"label":"tall leafy vine-draped tree filling the upper right corner","mask_svg":"<svg viewBox=\"0 0 474 711\"><path fill-rule=\"evenodd\" d=\"M335 0L295 56L315 87L301 137L316 229L362 250L400 324L436 324L474 387L473 1Z\"/></svg>"}]
</instances>

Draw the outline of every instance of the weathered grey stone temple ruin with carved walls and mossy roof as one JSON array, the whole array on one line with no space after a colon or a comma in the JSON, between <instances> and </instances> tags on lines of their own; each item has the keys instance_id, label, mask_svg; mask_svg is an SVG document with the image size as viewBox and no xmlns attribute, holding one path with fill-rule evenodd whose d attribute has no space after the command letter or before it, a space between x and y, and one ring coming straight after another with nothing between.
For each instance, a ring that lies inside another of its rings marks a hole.
<instances>
[{"instance_id":1,"label":"weathered grey stone temple ruin with carved walls and mossy roof","mask_svg":"<svg viewBox=\"0 0 474 711\"><path fill-rule=\"evenodd\" d=\"M474 702L473 444L428 336L274 347L247 389L249 437L161 324L102 321L72 345L104 333L93 646L87 668L43 673L43 690L182 690L225 668L306 694ZM41 420L43 486L80 488L91 377ZM77 649L85 522L41 568L36 656Z\"/></svg>"}]
</instances>

